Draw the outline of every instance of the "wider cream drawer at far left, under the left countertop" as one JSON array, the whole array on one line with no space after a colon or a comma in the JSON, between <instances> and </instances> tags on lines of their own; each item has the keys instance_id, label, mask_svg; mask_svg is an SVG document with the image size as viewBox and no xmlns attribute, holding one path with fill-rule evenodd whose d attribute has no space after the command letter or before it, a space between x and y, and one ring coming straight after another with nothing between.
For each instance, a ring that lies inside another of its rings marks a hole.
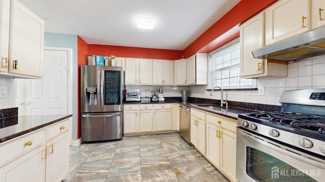
<instances>
[{"instance_id":1,"label":"wider cream drawer at far left, under the left countertop","mask_svg":"<svg viewBox=\"0 0 325 182\"><path fill-rule=\"evenodd\" d=\"M41 129L0 145L0 167L5 162L11 161L11 159L40 147L40 145L45 142L44 136L45 131Z\"/></svg>"}]
</instances>

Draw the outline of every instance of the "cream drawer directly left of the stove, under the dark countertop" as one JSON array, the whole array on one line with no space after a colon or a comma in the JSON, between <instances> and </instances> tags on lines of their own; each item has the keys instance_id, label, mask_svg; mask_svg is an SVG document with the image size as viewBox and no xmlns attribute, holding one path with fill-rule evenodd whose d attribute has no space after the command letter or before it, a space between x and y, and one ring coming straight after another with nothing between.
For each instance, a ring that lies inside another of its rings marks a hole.
<instances>
[{"instance_id":1,"label":"cream drawer directly left of the stove, under the dark countertop","mask_svg":"<svg viewBox=\"0 0 325 182\"><path fill-rule=\"evenodd\" d=\"M236 126L237 126L236 120L224 118L218 115L207 114L207 122L213 125L221 126L224 129L236 132Z\"/></svg>"}]
</instances>

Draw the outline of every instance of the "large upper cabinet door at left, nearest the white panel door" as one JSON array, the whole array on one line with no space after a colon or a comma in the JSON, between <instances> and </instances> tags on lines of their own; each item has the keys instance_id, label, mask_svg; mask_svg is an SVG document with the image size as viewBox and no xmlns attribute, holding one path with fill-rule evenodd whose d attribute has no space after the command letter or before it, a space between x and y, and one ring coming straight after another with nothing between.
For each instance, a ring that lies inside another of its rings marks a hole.
<instances>
[{"instance_id":1,"label":"large upper cabinet door at left, nearest the white panel door","mask_svg":"<svg viewBox=\"0 0 325 182\"><path fill-rule=\"evenodd\" d=\"M12 1L11 16L9 72L42 77L44 21L17 1Z\"/></svg>"}]
</instances>

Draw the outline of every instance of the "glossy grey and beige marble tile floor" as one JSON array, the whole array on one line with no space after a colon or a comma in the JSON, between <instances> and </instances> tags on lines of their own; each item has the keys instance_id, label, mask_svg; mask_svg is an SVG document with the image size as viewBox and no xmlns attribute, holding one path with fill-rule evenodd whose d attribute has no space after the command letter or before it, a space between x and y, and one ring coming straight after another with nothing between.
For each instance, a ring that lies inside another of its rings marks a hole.
<instances>
[{"instance_id":1,"label":"glossy grey and beige marble tile floor","mask_svg":"<svg viewBox=\"0 0 325 182\"><path fill-rule=\"evenodd\" d=\"M63 181L229 181L178 133L70 147Z\"/></svg>"}]
</instances>

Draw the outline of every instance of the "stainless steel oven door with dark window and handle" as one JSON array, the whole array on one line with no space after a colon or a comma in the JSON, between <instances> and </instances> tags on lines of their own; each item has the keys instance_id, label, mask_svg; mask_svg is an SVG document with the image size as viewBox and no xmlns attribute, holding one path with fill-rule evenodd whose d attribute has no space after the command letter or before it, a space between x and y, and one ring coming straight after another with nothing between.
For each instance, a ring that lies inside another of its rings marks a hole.
<instances>
[{"instance_id":1,"label":"stainless steel oven door with dark window and handle","mask_svg":"<svg viewBox=\"0 0 325 182\"><path fill-rule=\"evenodd\" d=\"M304 156L304 157L303 157ZM325 161L237 128L238 181L322 181Z\"/></svg>"}]
</instances>

